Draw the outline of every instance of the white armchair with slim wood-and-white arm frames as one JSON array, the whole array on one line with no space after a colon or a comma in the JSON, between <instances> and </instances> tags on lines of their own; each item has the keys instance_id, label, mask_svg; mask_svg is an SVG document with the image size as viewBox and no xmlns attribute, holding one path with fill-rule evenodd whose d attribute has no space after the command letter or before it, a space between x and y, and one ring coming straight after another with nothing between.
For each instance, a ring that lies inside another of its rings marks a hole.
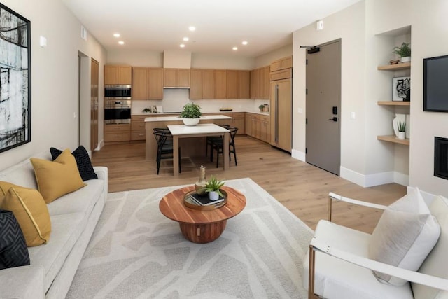
<instances>
[{"instance_id":1,"label":"white armchair with slim wood-and-white arm frames","mask_svg":"<svg viewBox=\"0 0 448 299\"><path fill-rule=\"evenodd\" d=\"M330 193L328 221L318 222L309 245L309 253L303 260L303 284L308 286L310 299L315 298L315 295L329 299L448 298L447 198L437 196L429 206L430 214L440 225L440 236L438 240L436 239L437 243L433 249L428 249L430 253L428 256L425 254L426 258L416 271L380 263L369 258L369 243L372 241L372 235L330 222L332 200L375 209L387 208ZM412 256L411 259L416 258ZM405 282L401 286L385 284L379 282L381 279L377 279L372 271L410 282Z\"/></svg>"}]
</instances>

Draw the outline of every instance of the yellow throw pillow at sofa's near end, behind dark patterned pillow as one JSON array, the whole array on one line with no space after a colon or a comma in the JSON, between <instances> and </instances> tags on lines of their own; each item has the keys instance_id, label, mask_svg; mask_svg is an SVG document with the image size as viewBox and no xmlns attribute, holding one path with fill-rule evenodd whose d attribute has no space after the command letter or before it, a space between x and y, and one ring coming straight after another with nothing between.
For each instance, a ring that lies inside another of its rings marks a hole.
<instances>
[{"instance_id":1,"label":"yellow throw pillow at sofa's near end, behind dark patterned pillow","mask_svg":"<svg viewBox=\"0 0 448 299\"><path fill-rule=\"evenodd\" d=\"M6 188L10 188L5 191ZM0 208L12 211L23 232L27 246L46 244L50 239L51 221L47 205L38 190L0 182L4 193Z\"/></svg>"}]
</instances>

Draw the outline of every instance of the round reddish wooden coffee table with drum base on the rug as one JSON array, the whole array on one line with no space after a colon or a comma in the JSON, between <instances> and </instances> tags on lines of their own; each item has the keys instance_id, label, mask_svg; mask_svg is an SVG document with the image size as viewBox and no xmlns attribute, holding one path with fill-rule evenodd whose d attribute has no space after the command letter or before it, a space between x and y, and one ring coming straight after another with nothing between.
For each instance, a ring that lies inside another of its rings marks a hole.
<instances>
[{"instance_id":1,"label":"round reddish wooden coffee table with drum base on the rug","mask_svg":"<svg viewBox=\"0 0 448 299\"><path fill-rule=\"evenodd\" d=\"M246 207L246 197L234 188L223 186L222 189L228 193L227 203L217 209L201 211L183 204L184 195L194 188L188 186L168 193L160 200L159 209L167 218L179 222L186 239L194 243L209 243L223 233L229 218Z\"/></svg>"}]
</instances>

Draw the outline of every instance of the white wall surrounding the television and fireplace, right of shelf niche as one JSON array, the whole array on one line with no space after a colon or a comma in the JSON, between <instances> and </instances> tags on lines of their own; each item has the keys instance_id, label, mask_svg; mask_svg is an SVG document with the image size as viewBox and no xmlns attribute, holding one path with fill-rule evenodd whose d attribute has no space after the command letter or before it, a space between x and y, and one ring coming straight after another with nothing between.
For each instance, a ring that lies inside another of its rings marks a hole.
<instances>
[{"instance_id":1,"label":"white wall surrounding the television and fireplace, right of shelf niche","mask_svg":"<svg viewBox=\"0 0 448 299\"><path fill-rule=\"evenodd\" d=\"M448 55L448 1L412 0L410 186L448 197L448 181L433 176L434 137L448 138L448 113L423 112L423 58Z\"/></svg>"}]
</instances>

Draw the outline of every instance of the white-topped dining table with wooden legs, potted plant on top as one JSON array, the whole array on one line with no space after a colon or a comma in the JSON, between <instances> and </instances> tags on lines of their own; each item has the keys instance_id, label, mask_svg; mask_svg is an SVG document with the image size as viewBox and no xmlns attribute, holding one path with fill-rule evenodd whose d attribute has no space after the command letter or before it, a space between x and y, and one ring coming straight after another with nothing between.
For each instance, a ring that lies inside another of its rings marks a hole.
<instances>
[{"instance_id":1,"label":"white-topped dining table with wooden legs, potted plant on top","mask_svg":"<svg viewBox=\"0 0 448 299\"><path fill-rule=\"evenodd\" d=\"M179 176L179 139L192 137L223 137L223 156L229 156L229 130L214 123L200 123L198 125L168 125L169 132L173 135L173 172ZM223 158L223 169L229 168L229 159Z\"/></svg>"}]
</instances>

